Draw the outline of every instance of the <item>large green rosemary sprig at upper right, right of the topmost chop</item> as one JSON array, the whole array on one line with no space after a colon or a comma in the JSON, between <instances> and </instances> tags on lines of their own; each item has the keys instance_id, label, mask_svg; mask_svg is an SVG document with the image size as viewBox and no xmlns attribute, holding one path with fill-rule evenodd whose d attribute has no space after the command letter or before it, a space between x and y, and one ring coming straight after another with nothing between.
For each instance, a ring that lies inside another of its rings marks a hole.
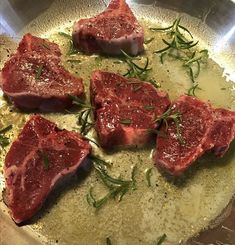
<instances>
[{"instance_id":1,"label":"large green rosemary sprig at upper right, right of the topmost chop","mask_svg":"<svg viewBox=\"0 0 235 245\"><path fill-rule=\"evenodd\" d=\"M201 62L208 58L208 50L192 51L198 41L193 40L191 32L180 25L180 21L181 18L178 18L172 25L165 28L150 28L152 31L165 32L170 39L169 41L162 39L166 46L154 53L160 54L162 64L164 64L166 56L182 61L182 66L187 69L191 81L196 83L195 79L199 76ZM195 93L193 96L195 96Z\"/></svg>"}]
</instances>

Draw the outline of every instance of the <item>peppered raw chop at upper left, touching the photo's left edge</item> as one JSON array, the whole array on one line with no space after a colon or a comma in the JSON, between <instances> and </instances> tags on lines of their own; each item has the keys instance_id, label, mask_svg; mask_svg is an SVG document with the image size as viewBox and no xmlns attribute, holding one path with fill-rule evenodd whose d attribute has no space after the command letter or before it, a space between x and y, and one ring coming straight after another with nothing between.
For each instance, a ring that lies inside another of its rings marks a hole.
<instances>
[{"instance_id":1,"label":"peppered raw chop at upper left, touching the photo's left edge","mask_svg":"<svg viewBox=\"0 0 235 245\"><path fill-rule=\"evenodd\" d=\"M31 34L23 37L17 53L0 73L1 88L15 106L25 110L61 111L72 105L68 94L84 96L82 79L66 71L59 64L59 56L57 44Z\"/></svg>"}]
</instances>

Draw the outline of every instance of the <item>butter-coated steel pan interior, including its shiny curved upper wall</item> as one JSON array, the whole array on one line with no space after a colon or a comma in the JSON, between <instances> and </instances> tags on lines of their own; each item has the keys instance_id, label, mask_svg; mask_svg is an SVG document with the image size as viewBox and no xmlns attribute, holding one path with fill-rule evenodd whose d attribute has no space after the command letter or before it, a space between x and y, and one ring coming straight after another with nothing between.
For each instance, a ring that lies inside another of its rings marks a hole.
<instances>
[{"instance_id":1,"label":"butter-coated steel pan interior, including its shiny curved upper wall","mask_svg":"<svg viewBox=\"0 0 235 245\"><path fill-rule=\"evenodd\" d=\"M151 32L149 27L168 26L181 16L183 25L190 29L195 40L199 40L200 48L209 50L210 59L203 65L198 77L201 90L197 90L197 96L210 101L214 107L235 110L235 87L232 81L235 78L235 69L232 66L235 58L231 47L226 45L226 40L222 40L202 20L189 15L153 5L130 6L144 26L146 39L154 37L154 41L146 45L146 52L141 55L140 62L144 64L146 57L149 57L152 67L150 76L169 93L171 100L187 92L192 84L179 61L166 60L164 64L159 62L159 56L153 52L162 48L164 33ZM127 67L124 63L117 64L118 58L86 56L82 53L68 56L70 42L59 35L59 32L71 33L75 20L93 16L104 8L103 1L53 1L46 11L27 23L20 32L11 34L14 42L3 36L5 44L0 47L3 61L1 65L7 59L6 47L14 50L22 34L31 32L59 44L63 53L62 64L71 73L83 78L87 91L92 70L105 69L124 74ZM71 63L68 61L70 59L80 62ZM15 110L3 98L0 113L1 124L15 122L9 135L14 140L29 114ZM43 116L56 122L61 128L77 128L76 114L52 113ZM95 132L91 131L89 137L96 140ZM83 170L82 174L78 173L78 176L62 188L59 187L49 197L32 224L24 229L37 233L39 240L43 239L48 244L101 245L105 244L107 237L114 245L156 244L163 234L167 235L167 244L185 244L189 238L215 220L235 193L234 143L222 159L216 159L211 154L200 158L176 183L168 180L153 166L151 154L154 143L145 149L112 153L103 152L93 145L94 153L113 163L110 172L115 177L121 175L125 179L130 178L131 169L136 166L136 190L127 193L122 201L110 200L96 210L86 200L90 187L94 187L97 197L104 196L107 189L93 170L89 175L88 170ZM4 154L1 156L0 167L3 159ZM147 186L145 178L148 168L153 168L151 187ZM4 185L0 187L3 189Z\"/></svg>"}]
</instances>

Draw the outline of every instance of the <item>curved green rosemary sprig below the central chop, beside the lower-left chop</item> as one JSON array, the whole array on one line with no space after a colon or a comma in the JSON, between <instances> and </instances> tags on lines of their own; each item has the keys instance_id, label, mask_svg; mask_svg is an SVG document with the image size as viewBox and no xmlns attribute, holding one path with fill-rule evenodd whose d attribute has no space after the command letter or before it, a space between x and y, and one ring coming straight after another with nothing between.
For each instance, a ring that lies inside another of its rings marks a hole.
<instances>
[{"instance_id":1,"label":"curved green rosemary sprig below the central chop, beside the lower-left chop","mask_svg":"<svg viewBox=\"0 0 235 245\"><path fill-rule=\"evenodd\" d=\"M91 187L87 194L87 202L89 205L94 208L99 209L102 207L110 198L118 198L118 201L121 201L123 196L130 190L134 190L135 186L135 171L136 168L132 169L131 179L123 180L121 178L114 178L110 176L107 172L107 164L104 164L104 161L93 157L91 158L93 166L96 170L96 173L102 180L103 184L109 189L109 192L100 199L96 200L93 195L93 188Z\"/></svg>"}]
</instances>

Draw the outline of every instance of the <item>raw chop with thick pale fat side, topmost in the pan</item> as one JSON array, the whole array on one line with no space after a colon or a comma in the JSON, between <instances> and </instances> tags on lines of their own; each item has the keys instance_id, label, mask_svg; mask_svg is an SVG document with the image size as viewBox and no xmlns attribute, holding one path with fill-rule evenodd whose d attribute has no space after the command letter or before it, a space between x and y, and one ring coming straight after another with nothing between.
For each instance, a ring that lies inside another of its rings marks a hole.
<instances>
[{"instance_id":1,"label":"raw chop with thick pale fat side, topmost in the pan","mask_svg":"<svg viewBox=\"0 0 235 245\"><path fill-rule=\"evenodd\" d=\"M137 55L144 50L144 30L125 0L112 0L101 14L75 22L72 36L74 45L88 54L124 50Z\"/></svg>"}]
</instances>

